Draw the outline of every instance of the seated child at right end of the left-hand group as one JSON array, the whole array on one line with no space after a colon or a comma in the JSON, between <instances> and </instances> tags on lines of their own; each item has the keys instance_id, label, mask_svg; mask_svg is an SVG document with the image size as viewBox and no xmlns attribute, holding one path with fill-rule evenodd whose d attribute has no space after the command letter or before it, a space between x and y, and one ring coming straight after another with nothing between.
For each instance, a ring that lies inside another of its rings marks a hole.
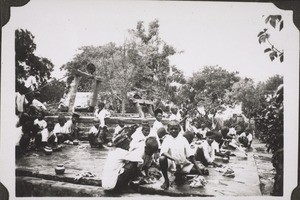
<instances>
[{"instance_id":1,"label":"seated child at right end of the left-hand group","mask_svg":"<svg viewBox=\"0 0 300 200\"><path fill-rule=\"evenodd\" d=\"M67 140L65 142L72 144L73 140L78 140L78 121L80 115L77 113L72 114L72 118L65 123L65 133Z\"/></svg>"}]
</instances>

